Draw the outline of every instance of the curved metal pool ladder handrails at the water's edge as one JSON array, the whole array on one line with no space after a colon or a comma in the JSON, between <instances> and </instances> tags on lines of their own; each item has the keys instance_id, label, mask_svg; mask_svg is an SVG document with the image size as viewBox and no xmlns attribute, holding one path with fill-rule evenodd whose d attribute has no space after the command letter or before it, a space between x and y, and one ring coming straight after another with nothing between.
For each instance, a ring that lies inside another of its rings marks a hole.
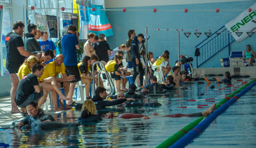
<instances>
[{"instance_id":1,"label":"curved metal pool ladder handrails at the water's edge","mask_svg":"<svg viewBox=\"0 0 256 148\"><path fill-rule=\"evenodd\" d=\"M105 65L102 63L102 62L100 62L100 61L97 61L97 62L95 62L94 64L93 64L93 67L92 67L92 69L94 70L94 67L95 66L97 66L97 64L100 64L100 66L101 67L105 67ZM103 68L102 70L100 70L99 71L99 73L98 73L98 86L100 86L100 79L99 79L99 77L100 77L100 74L102 73L102 72L105 72L105 75L106 75L106 78L107 78L107 80L108 80L108 82L109 82L109 86L110 86L110 92L107 94L107 97L106 97L106 99L110 96L110 95L112 95L114 92L115 92L115 87L114 87L114 83L112 82L112 79L111 79L111 77L110 77L110 75L109 75L109 73L105 70L105 68ZM95 84L95 78L94 78L94 72L93 72L93 84ZM95 85L93 85L93 88L91 89L91 91L92 91L92 94L93 94L93 96L95 95Z\"/></svg>"}]
</instances>

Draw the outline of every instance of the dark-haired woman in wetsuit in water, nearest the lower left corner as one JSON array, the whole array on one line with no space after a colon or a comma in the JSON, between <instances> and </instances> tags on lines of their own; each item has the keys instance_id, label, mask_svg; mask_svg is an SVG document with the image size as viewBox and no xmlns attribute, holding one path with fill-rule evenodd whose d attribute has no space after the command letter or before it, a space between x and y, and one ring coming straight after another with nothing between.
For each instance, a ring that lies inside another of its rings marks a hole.
<instances>
[{"instance_id":1,"label":"dark-haired woman in wetsuit in water, nearest the lower left corner","mask_svg":"<svg viewBox=\"0 0 256 148\"><path fill-rule=\"evenodd\" d=\"M24 119L20 120L20 122L14 121L12 123L14 127L18 126L19 128L22 128L24 125L27 125L30 128L34 128L39 123L55 122L53 116L49 114L44 114L43 109L39 108L37 103L34 101L28 102L26 108L30 116L25 117Z\"/></svg>"}]
</instances>

